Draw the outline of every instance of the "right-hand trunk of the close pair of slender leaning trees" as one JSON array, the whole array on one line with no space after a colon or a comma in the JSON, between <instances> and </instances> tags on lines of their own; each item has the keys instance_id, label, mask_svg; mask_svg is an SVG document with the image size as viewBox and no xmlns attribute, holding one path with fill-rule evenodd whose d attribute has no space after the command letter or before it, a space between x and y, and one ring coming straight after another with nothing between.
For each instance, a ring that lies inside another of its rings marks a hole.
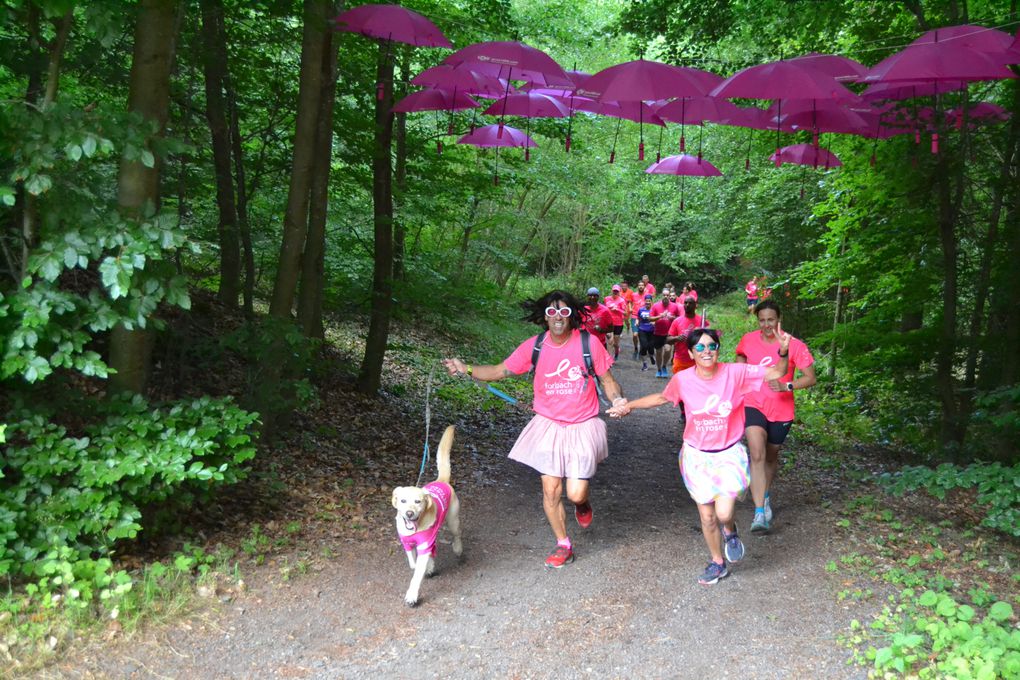
<instances>
[{"instance_id":1,"label":"right-hand trunk of the close pair of slender leaning trees","mask_svg":"<svg viewBox=\"0 0 1020 680\"><path fill-rule=\"evenodd\" d=\"M335 13L339 9L333 8ZM337 51L340 41L332 31L322 37L322 93L319 98L315 161L312 166L308 208L308 234L301 262L298 321L307 337L322 338L322 266L325 257L325 225L329 205L329 170L333 165L333 109L337 101Z\"/></svg>"}]
</instances>

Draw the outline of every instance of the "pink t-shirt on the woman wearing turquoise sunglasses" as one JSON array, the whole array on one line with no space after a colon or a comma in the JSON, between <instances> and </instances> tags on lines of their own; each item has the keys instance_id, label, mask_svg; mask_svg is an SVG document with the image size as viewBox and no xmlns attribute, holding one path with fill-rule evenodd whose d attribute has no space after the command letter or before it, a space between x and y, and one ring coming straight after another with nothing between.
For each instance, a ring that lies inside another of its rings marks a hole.
<instances>
[{"instance_id":1,"label":"pink t-shirt on the woman wearing turquoise sunglasses","mask_svg":"<svg viewBox=\"0 0 1020 680\"><path fill-rule=\"evenodd\" d=\"M711 380L687 368L669 379L662 396L683 402L683 440L700 451L722 451L744 436L745 396L757 391L765 369L752 364L717 364Z\"/></svg>"}]
</instances>

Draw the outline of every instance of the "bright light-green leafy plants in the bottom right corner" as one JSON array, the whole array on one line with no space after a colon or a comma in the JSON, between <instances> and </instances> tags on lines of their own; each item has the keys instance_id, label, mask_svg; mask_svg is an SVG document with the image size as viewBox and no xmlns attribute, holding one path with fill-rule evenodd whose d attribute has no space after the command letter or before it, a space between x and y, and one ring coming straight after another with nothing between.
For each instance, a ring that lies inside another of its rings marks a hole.
<instances>
[{"instance_id":1,"label":"bright light-green leafy plants in the bottom right corner","mask_svg":"<svg viewBox=\"0 0 1020 680\"><path fill-rule=\"evenodd\" d=\"M974 607L945 592L904 590L871 624L855 630L872 639L864 658L883 676L919 678L1009 678L1020 674L1020 634L1013 608L997 601L980 616Z\"/></svg>"}]
</instances>

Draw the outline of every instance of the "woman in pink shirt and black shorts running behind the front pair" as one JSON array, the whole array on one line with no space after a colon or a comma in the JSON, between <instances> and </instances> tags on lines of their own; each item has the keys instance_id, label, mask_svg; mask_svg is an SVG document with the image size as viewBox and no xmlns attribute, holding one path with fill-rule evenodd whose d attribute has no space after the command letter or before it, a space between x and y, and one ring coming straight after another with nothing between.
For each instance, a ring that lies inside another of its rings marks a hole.
<instances>
[{"instance_id":1,"label":"woman in pink shirt and black shorts running behind the front pair","mask_svg":"<svg viewBox=\"0 0 1020 680\"><path fill-rule=\"evenodd\" d=\"M746 333L736 345L736 361L757 366L774 366L779 361L779 306L763 300L755 307L758 330ZM815 359L808 346L796 337L789 341L789 359L783 375L763 384L744 401L748 451L751 454L751 495L755 515L751 531L767 533L772 525L769 498L779 469L779 449L794 424L794 393L815 384ZM794 377L796 371L799 377Z\"/></svg>"}]
</instances>

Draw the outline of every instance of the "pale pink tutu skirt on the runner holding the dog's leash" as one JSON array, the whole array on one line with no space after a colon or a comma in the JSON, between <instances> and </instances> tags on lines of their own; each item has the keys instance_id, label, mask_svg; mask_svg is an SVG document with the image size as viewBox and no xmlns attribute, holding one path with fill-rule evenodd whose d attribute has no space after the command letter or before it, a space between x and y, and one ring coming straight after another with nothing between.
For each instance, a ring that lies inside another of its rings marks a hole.
<instances>
[{"instance_id":1,"label":"pale pink tutu skirt on the runner holding the dog's leash","mask_svg":"<svg viewBox=\"0 0 1020 680\"><path fill-rule=\"evenodd\" d=\"M510 450L510 460L568 479L591 479L608 456L606 423L599 418L561 424L536 415Z\"/></svg>"}]
</instances>

